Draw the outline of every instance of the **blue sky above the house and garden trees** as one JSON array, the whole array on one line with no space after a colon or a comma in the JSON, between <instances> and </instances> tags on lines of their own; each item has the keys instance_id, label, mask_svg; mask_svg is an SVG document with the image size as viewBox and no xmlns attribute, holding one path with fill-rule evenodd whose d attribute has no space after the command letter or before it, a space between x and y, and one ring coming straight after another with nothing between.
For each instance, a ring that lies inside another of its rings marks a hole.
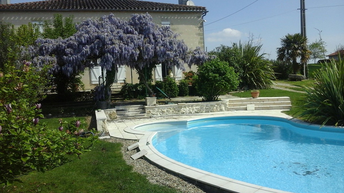
<instances>
[{"instance_id":1,"label":"blue sky above the house and garden trees","mask_svg":"<svg viewBox=\"0 0 344 193\"><path fill-rule=\"evenodd\" d=\"M11 0L11 3L35 0ZM178 0L147 0L178 4ZM248 41L253 35L262 44L262 53L276 59L280 38L300 33L300 0L193 0L206 7L204 39L207 51L222 45ZM344 1L305 0L306 34L309 43L322 40L327 53L344 45ZM217 21L219 20L219 21Z\"/></svg>"}]
</instances>

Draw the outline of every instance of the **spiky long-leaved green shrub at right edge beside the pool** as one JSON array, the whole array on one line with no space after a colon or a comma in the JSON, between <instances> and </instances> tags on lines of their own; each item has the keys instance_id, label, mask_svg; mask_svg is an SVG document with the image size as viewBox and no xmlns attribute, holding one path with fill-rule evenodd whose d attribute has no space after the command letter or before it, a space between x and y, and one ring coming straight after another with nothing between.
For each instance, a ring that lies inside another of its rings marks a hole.
<instances>
[{"instance_id":1,"label":"spiky long-leaved green shrub at right edge beside the pool","mask_svg":"<svg viewBox=\"0 0 344 193\"><path fill-rule=\"evenodd\" d=\"M319 84L306 89L305 111L300 117L312 123L344 126L344 60L322 64L314 76Z\"/></svg>"}]
</instances>

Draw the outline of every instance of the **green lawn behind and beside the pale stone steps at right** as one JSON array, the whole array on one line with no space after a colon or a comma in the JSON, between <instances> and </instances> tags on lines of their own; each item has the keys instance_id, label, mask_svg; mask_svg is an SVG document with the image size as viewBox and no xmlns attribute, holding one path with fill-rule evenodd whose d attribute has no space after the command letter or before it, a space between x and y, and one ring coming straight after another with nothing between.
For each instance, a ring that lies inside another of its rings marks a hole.
<instances>
[{"instance_id":1,"label":"green lawn behind and beside the pale stone steps at right","mask_svg":"<svg viewBox=\"0 0 344 193\"><path fill-rule=\"evenodd\" d=\"M304 111L300 108L303 104L302 102L302 95L304 95L303 93L285 91L285 90L279 90L279 89L261 89L259 91L260 91L259 97L289 96L292 107L290 111L284 111L284 113L286 113L287 115L296 116L296 115L301 114ZM233 93L232 95L243 97L243 98L251 97L250 91Z\"/></svg>"}]
</instances>

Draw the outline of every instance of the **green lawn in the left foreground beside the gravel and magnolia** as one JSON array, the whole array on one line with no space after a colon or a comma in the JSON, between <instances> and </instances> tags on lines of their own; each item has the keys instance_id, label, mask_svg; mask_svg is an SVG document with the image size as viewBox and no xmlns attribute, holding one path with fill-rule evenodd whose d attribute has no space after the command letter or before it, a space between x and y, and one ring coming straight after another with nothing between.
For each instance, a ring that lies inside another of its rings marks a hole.
<instances>
[{"instance_id":1,"label":"green lawn in the left foreground beside the gravel and magnolia","mask_svg":"<svg viewBox=\"0 0 344 193\"><path fill-rule=\"evenodd\" d=\"M52 118L42 122L57 127L57 120L58 118ZM73 118L63 118L63 121L70 120ZM81 155L81 159L73 157L72 162L44 173L31 172L20 177L23 183L16 182L0 189L0 192L177 192L165 186L151 184L143 175L133 172L132 166L126 164L120 150L121 144L100 141L92 147L91 152Z\"/></svg>"}]
</instances>

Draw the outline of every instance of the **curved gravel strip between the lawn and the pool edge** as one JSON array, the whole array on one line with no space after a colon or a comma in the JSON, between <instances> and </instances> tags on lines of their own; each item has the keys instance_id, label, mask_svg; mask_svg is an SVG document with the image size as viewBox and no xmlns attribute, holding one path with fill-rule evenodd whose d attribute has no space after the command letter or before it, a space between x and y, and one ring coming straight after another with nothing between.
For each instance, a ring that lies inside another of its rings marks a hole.
<instances>
[{"instance_id":1,"label":"curved gravel strip between the lawn and the pool edge","mask_svg":"<svg viewBox=\"0 0 344 193\"><path fill-rule=\"evenodd\" d=\"M128 165L133 166L133 171L146 176L149 182L167 186L183 193L204 193L204 191L199 186L196 186L195 184L187 182L171 173L166 172L163 169L158 168L157 166L154 166L146 159L140 158L137 160L133 160L130 156L136 154L138 151L128 151L128 146L136 143L136 140L120 139L115 137L102 140L111 143L122 144L121 152L123 154L123 159Z\"/></svg>"}]
</instances>

